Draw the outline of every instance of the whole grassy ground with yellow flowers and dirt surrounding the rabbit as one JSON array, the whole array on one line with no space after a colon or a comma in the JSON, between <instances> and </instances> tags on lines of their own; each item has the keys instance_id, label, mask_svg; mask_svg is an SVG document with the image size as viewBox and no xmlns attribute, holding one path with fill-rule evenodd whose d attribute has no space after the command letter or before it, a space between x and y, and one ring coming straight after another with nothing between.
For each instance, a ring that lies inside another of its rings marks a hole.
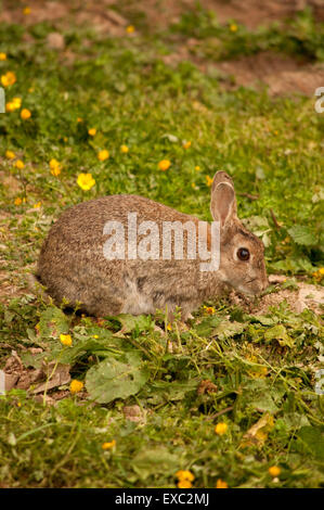
<instances>
[{"instance_id":1,"label":"whole grassy ground with yellow flowers and dirt surrounding the rabbit","mask_svg":"<svg viewBox=\"0 0 324 510\"><path fill-rule=\"evenodd\" d=\"M323 486L322 22L317 0L2 2L1 487ZM265 245L261 296L170 324L35 288L64 208L135 193L211 219L218 169Z\"/></svg>"}]
</instances>

